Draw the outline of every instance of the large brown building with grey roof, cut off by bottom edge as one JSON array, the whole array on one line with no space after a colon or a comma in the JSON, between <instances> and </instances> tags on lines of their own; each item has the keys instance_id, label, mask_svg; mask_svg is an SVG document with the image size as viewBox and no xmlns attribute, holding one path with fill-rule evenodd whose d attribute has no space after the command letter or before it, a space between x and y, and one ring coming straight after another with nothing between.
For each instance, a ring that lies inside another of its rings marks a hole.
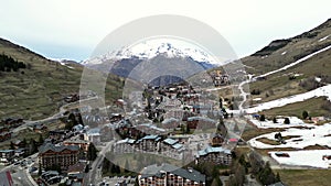
<instances>
[{"instance_id":1,"label":"large brown building with grey roof, cut off by bottom edge","mask_svg":"<svg viewBox=\"0 0 331 186\"><path fill-rule=\"evenodd\" d=\"M174 186L204 186L205 175L189 168L173 166L171 164L150 165L138 175L139 186L174 185Z\"/></svg>"}]
</instances>

